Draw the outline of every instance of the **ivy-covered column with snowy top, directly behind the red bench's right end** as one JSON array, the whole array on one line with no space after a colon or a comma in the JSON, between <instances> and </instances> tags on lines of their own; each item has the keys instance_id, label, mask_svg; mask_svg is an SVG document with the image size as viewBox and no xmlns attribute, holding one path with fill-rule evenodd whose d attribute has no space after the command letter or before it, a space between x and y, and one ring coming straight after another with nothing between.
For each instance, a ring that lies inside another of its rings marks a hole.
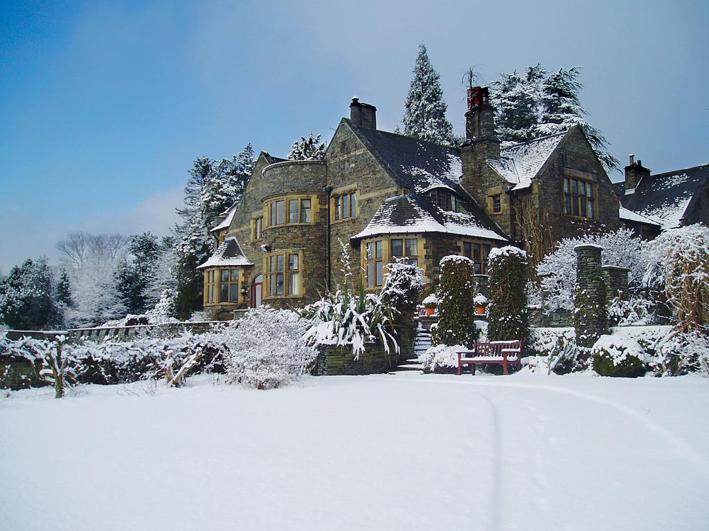
<instances>
[{"instance_id":1,"label":"ivy-covered column with snowy top, directly behind the red bench's right end","mask_svg":"<svg viewBox=\"0 0 709 531\"><path fill-rule=\"evenodd\" d=\"M488 335L491 341L525 339L527 318L527 253L513 246L492 249L488 256Z\"/></svg>"}]
</instances>

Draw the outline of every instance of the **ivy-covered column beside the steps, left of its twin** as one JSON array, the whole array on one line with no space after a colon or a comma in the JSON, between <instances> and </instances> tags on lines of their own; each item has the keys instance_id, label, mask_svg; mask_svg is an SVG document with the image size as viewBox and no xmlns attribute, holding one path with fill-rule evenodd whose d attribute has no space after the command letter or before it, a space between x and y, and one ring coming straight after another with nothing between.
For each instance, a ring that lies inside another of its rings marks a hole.
<instances>
[{"instance_id":1,"label":"ivy-covered column beside the steps, left of its twin","mask_svg":"<svg viewBox=\"0 0 709 531\"><path fill-rule=\"evenodd\" d=\"M475 268L470 258L445 256L440 261L438 326L432 329L434 345L473 348L477 338L474 294Z\"/></svg>"}]
</instances>

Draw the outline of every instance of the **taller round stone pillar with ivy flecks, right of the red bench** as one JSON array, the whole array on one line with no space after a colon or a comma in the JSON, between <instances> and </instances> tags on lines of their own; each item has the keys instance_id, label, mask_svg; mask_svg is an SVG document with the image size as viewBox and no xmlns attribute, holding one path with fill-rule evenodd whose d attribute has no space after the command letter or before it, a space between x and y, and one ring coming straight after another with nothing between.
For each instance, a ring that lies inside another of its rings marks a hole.
<instances>
[{"instance_id":1,"label":"taller round stone pillar with ivy flecks, right of the red bench","mask_svg":"<svg viewBox=\"0 0 709 531\"><path fill-rule=\"evenodd\" d=\"M590 348L604 333L608 333L605 312L605 282L598 245L577 245L576 297L574 297L574 326L576 344Z\"/></svg>"}]
</instances>

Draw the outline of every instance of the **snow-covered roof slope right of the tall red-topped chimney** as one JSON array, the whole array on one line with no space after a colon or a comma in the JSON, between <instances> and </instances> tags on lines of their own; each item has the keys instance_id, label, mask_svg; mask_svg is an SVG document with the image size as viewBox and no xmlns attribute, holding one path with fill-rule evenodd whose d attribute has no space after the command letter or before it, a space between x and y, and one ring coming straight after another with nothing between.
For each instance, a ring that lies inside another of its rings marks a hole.
<instances>
[{"instance_id":1,"label":"snow-covered roof slope right of the tall red-topped chimney","mask_svg":"<svg viewBox=\"0 0 709 531\"><path fill-rule=\"evenodd\" d=\"M514 144L501 149L499 161L488 159L488 164L508 183L513 184L515 190L527 188L552 156L554 149L561 144L564 135L566 132Z\"/></svg>"}]
</instances>

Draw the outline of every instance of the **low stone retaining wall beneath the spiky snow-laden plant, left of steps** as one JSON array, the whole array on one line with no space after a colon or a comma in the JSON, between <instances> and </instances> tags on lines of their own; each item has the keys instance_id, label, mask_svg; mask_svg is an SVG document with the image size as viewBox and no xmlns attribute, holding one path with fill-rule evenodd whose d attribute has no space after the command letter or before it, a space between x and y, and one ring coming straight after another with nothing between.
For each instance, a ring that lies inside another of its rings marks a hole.
<instances>
[{"instance_id":1,"label":"low stone retaining wall beneath the spiky snow-laden plant, left of steps","mask_svg":"<svg viewBox=\"0 0 709 531\"><path fill-rule=\"evenodd\" d=\"M321 346L314 374L316 376L335 375L375 375L387 372L396 366L396 355L387 355L379 344L369 343L367 351L354 359L352 347Z\"/></svg>"}]
</instances>

